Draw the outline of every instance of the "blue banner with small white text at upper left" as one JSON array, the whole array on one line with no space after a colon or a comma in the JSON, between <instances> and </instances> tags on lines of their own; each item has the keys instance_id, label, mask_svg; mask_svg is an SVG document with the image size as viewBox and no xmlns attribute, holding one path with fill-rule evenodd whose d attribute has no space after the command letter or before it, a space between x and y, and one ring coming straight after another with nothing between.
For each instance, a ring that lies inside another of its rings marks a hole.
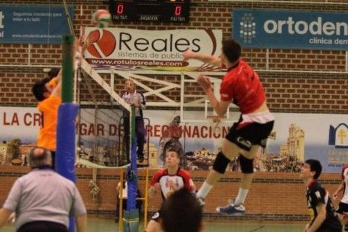
<instances>
[{"instance_id":1,"label":"blue banner with small white text at upper left","mask_svg":"<svg viewBox=\"0 0 348 232\"><path fill-rule=\"evenodd\" d=\"M69 33L63 6L0 6L0 43L60 44Z\"/></svg>"}]
</instances>

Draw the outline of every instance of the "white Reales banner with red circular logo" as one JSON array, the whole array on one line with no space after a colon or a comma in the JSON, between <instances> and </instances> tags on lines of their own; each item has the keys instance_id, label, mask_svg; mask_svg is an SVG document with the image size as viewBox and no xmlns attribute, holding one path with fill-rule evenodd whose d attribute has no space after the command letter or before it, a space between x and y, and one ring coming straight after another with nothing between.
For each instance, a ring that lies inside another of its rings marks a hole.
<instances>
[{"instance_id":1,"label":"white Reales banner with red circular logo","mask_svg":"<svg viewBox=\"0 0 348 232\"><path fill-rule=\"evenodd\" d=\"M89 46L84 53L93 66L118 69L209 71L198 60L182 60L187 49L219 56L221 30L145 31L86 27Z\"/></svg>"}]
</instances>

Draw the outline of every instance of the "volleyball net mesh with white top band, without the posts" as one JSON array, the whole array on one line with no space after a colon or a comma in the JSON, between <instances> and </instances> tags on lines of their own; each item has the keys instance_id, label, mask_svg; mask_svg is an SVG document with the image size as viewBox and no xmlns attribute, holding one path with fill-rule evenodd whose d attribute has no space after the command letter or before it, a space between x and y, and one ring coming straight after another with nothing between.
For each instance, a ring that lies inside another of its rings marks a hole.
<instances>
[{"instance_id":1,"label":"volleyball net mesh with white top band, without the posts","mask_svg":"<svg viewBox=\"0 0 348 232\"><path fill-rule=\"evenodd\" d=\"M132 146L132 140L127 135L132 131L132 124L129 124L132 110L113 89L111 72L100 74L86 60L81 60L76 91L80 106L77 124L79 167L120 167L130 161L127 146Z\"/></svg>"}]
</instances>

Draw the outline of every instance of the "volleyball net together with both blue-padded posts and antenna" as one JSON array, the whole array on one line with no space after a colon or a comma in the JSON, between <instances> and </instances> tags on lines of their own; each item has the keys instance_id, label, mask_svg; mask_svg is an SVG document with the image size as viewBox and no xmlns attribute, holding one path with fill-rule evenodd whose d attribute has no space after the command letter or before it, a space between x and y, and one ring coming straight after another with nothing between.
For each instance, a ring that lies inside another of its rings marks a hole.
<instances>
[{"instance_id":1,"label":"volleyball net together with both blue-padded posts and antenna","mask_svg":"<svg viewBox=\"0 0 348 232\"><path fill-rule=\"evenodd\" d=\"M63 103L58 109L57 172L75 181L74 161L76 161L77 166L93 167L93 181L90 183L95 185L93 187L93 190L96 190L93 197L93 200L95 200L99 192L99 188L95 183L97 181L96 169L117 167L129 163L130 165L127 165L126 171L128 204L124 218L132 221L132 223L125 219L123 223L127 227L134 227L135 229L139 222L139 211L136 210L135 206L137 172L134 107L131 108L113 90L114 85L111 78L100 76L81 57L81 44L78 45L78 48L76 47L77 44L74 44L74 31L70 15L66 10L66 1L64 1L64 6L71 35L63 37L62 92L64 94L62 95ZM81 35L83 35L82 31ZM75 53L75 49L79 49L79 52ZM79 67L75 72L73 72L74 58L77 58ZM72 79L72 76L74 76L74 79ZM74 88L72 88L72 85L74 85ZM72 103L72 95L74 95L74 101L77 104ZM127 115L127 118L125 115ZM76 118L77 124L74 120ZM128 122L127 128L123 126L125 120ZM77 137L75 137L75 125ZM128 133L125 133L125 131ZM125 143L125 140L127 140L127 143ZM127 146L127 149L125 149L125 146ZM132 151L130 151L131 147ZM74 150L77 152L74 152ZM69 231L74 231L73 218L70 218Z\"/></svg>"}]
</instances>

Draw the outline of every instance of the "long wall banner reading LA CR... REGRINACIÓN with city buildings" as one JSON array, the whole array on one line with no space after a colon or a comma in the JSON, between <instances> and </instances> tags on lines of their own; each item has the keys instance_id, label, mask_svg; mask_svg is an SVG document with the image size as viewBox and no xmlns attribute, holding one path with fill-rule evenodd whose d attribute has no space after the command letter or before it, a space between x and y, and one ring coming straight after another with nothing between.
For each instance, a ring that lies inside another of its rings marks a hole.
<instances>
[{"instance_id":1,"label":"long wall banner reading LA CR... REGRINACI\u00d3N with city buildings","mask_svg":"<svg viewBox=\"0 0 348 232\"><path fill-rule=\"evenodd\" d=\"M191 111L190 114L199 115L201 112ZM81 164L84 167L110 167L111 159L106 161L104 156L122 155L122 149L112 147L114 144L121 146L118 144L122 141L118 139L120 122L116 122L110 117L112 113L106 111L99 116L98 124L93 124L93 109L82 109L81 115L84 119L77 129L87 141L84 143L85 154L79 156ZM164 147L171 144L182 147L187 168L209 169L232 123L222 122L216 129L209 122L180 122L178 115L171 110L144 110L148 131L146 139L149 142L145 152L150 166L163 165ZM274 130L267 147L260 149L255 158L256 171L299 172L303 161L309 158L319 160L323 172L340 172L342 166L348 163L348 115L274 113L274 117ZM232 114L229 120L237 122L238 118L238 114ZM40 119L36 108L0 107L1 165L11 165L10 144L20 143L24 159L29 147L35 146ZM96 143L99 150L90 154ZM237 160L230 164L229 169L238 169Z\"/></svg>"}]
</instances>

